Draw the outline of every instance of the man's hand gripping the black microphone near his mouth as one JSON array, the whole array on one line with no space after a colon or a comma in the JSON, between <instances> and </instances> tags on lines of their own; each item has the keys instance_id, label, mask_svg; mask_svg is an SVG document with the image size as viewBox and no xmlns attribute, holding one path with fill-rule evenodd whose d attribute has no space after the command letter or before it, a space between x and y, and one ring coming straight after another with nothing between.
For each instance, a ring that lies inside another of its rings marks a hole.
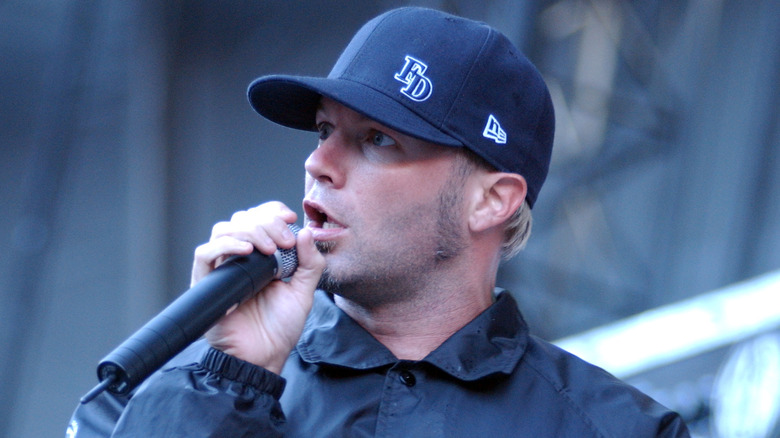
<instances>
[{"instance_id":1,"label":"man's hand gripping the black microphone near his mouth","mask_svg":"<svg viewBox=\"0 0 780 438\"><path fill-rule=\"evenodd\" d=\"M237 212L229 222L214 225L211 239L195 250L192 266L194 285L230 255L246 255L254 248L270 255L277 247L296 246L298 269L288 282L272 281L206 332L214 348L275 373L281 372L298 342L325 267L309 230L298 233L296 245L287 227L296 219L295 212L281 202Z\"/></svg>"}]
</instances>

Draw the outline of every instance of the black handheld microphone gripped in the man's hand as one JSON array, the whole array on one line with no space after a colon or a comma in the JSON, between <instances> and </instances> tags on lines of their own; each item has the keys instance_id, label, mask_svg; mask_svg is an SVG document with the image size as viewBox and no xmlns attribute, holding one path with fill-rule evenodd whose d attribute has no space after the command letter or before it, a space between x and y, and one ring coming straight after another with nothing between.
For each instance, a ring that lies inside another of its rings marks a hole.
<instances>
[{"instance_id":1,"label":"black handheld microphone gripped in the man's hand","mask_svg":"<svg viewBox=\"0 0 780 438\"><path fill-rule=\"evenodd\" d=\"M294 234L300 228L288 225ZM81 398L89 403L106 389L132 391L185 347L203 335L228 310L256 295L274 279L290 277L298 267L295 248L268 256L254 250L236 255L206 275L120 344L97 367L97 384Z\"/></svg>"}]
</instances>

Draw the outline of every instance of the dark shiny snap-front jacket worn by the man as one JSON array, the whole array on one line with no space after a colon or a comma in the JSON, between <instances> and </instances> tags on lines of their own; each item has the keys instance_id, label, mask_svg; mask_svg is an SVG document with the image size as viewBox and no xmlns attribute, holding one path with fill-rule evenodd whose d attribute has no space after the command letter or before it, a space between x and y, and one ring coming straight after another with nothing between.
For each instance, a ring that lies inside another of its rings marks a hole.
<instances>
[{"instance_id":1,"label":"dark shiny snap-front jacket worn by the man","mask_svg":"<svg viewBox=\"0 0 780 438\"><path fill-rule=\"evenodd\" d=\"M282 376L201 341L131 397L79 406L71 428L77 438L689 436L677 414L530 336L508 293L412 362L317 292Z\"/></svg>"}]
</instances>

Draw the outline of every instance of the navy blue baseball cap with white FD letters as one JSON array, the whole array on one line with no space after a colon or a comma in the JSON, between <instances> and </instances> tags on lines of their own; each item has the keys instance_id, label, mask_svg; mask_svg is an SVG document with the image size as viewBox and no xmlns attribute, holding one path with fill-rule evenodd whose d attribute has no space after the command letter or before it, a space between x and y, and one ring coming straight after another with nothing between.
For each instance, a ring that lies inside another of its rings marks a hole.
<instances>
[{"instance_id":1,"label":"navy blue baseball cap with white FD letters","mask_svg":"<svg viewBox=\"0 0 780 438\"><path fill-rule=\"evenodd\" d=\"M281 125L316 130L322 96L404 134L467 147L522 175L533 206L555 131L550 93L531 62L484 23L401 8L366 23L327 77L271 75L249 85L252 107Z\"/></svg>"}]
</instances>

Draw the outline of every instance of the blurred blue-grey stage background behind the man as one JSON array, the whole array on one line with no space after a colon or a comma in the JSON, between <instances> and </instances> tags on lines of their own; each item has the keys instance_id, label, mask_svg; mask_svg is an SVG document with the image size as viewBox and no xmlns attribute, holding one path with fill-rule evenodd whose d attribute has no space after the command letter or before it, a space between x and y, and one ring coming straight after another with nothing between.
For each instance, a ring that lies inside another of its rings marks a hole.
<instances>
[{"instance_id":1,"label":"blurred blue-grey stage background behind the man","mask_svg":"<svg viewBox=\"0 0 780 438\"><path fill-rule=\"evenodd\" d=\"M777 436L779 2L0 0L0 437L64 436L213 223L300 211L316 137L249 82L325 75L411 4L498 28L550 86L551 173L499 278L532 331L695 436Z\"/></svg>"}]
</instances>

